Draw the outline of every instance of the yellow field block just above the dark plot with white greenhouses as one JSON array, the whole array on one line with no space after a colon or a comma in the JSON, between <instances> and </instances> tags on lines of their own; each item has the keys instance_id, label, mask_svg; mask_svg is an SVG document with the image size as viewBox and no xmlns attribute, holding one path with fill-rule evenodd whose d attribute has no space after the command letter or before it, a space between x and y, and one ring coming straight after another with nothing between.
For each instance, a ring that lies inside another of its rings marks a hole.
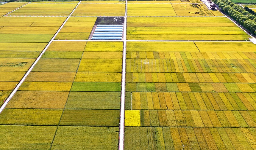
<instances>
[{"instance_id":1,"label":"yellow field block just above the dark plot with white greenhouses","mask_svg":"<svg viewBox=\"0 0 256 150\"><path fill-rule=\"evenodd\" d=\"M125 4L79 4L72 16L124 16Z\"/></svg>"}]
</instances>

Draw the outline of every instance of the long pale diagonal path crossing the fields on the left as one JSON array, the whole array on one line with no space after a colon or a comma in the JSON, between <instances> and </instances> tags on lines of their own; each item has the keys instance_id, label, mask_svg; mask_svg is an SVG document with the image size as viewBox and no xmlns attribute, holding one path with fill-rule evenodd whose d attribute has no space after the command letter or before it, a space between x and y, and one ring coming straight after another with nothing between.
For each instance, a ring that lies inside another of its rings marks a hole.
<instances>
[{"instance_id":1,"label":"long pale diagonal path crossing the fields on the left","mask_svg":"<svg viewBox=\"0 0 256 150\"><path fill-rule=\"evenodd\" d=\"M77 4L77 6L81 3L81 1L79 1L79 3ZM68 19L71 17L72 13L75 11L75 9L77 8L77 6L74 8L74 10L70 13L70 15L67 17L67 19L63 22L63 24L60 26L59 30L54 34L54 36L51 38L50 42L46 45L46 47L43 49L43 51L40 53L40 55L38 56L38 58L35 60L35 62L32 64L32 66L29 68L29 70L26 72L26 74L23 76L23 78L21 79L21 81L17 84L17 86L15 87L15 89L13 90L13 92L9 95L9 97L5 100L5 102L3 103L3 105L0 107L0 113L4 110L4 108L6 107L7 103L11 100L11 98L13 97L13 95L17 92L18 88L21 86L21 84L25 81L26 77L29 75L29 73L32 71L32 69L35 67L35 65L37 64L37 62L39 61L39 59L42 57L42 55L44 54L44 52L47 50L47 48L50 46L51 42L54 41L54 38L57 36L57 34L60 32L60 30L63 28L63 26L65 25L65 23L68 21Z\"/></svg>"}]
</instances>

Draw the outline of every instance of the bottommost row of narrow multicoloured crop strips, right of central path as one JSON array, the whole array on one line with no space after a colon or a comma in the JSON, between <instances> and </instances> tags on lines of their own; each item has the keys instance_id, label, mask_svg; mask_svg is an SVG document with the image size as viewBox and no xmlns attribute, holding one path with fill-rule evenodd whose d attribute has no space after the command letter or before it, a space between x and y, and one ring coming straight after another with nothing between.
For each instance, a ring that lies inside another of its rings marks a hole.
<instances>
[{"instance_id":1,"label":"bottommost row of narrow multicoloured crop strips, right of central path","mask_svg":"<svg viewBox=\"0 0 256 150\"><path fill-rule=\"evenodd\" d=\"M253 149L254 133L255 128L126 127L124 149Z\"/></svg>"}]
</instances>

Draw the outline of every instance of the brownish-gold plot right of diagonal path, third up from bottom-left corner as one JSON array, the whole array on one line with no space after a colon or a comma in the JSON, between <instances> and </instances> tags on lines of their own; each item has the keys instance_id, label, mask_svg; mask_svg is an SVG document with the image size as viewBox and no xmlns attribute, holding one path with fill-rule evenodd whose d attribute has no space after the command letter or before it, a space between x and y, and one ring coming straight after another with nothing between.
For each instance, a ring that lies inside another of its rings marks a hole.
<instances>
[{"instance_id":1,"label":"brownish-gold plot right of diagonal path, third up from bottom-left corner","mask_svg":"<svg viewBox=\"0 0 256 150\"><path fill-rule=\"evenodd\" d=\"M69 92L17 91L6 108L64 109Z\"/></svg>"}]
</instances>

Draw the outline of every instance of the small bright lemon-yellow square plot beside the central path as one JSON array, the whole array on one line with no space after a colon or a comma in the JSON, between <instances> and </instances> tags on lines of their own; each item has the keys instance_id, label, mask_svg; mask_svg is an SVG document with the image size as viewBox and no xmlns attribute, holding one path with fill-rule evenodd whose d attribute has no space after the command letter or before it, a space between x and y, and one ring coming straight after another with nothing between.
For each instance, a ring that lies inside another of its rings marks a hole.
<instances>
[{"instance_id":1,"label":"small bright lemon-yellow square plot beside the central path","mask_svg":"<svg viewBox=\"0 0 256 150\"><path fill-rule=\"evenodd\" d=\"M140 127L141 117L139 110L126 110L124 125L127 127Z\"/></svg>"}]
</instances>

